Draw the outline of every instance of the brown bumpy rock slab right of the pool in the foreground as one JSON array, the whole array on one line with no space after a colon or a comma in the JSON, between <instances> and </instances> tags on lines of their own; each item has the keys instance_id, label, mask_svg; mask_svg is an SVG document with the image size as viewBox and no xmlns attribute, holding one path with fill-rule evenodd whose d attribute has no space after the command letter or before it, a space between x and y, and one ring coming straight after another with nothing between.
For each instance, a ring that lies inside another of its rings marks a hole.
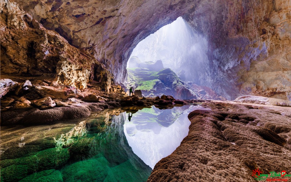
<instances>
[{"instance_id":1,"label":"brown bumpy rock slab right of the pool in the foreground","mask_svg":"<svg viewBox=\"0 0 291 182\"><path fill-rule=\"evenodd\" d=\"M290 110L259 104L206 105L213 111L189 114L188 136L156 164L148 181L255 181L252 173L258 168L263 174L291 170ZM261 109L249 109L254 107Z\"/></svg>"}]
</instances>

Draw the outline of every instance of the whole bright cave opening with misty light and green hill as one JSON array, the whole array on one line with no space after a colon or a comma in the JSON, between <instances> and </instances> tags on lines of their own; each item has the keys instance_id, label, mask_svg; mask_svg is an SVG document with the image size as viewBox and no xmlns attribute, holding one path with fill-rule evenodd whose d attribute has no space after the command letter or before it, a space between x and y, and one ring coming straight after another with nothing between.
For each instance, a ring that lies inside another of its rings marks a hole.
<instances>
[{"instance_id":1,"label":"whole bright cave opening with misty light and green hill","mask_svg":"<svg viewBox=\"0 0 291 182\"><path fill-rule=\"evenodd\" d=\"M138 43L127 62L127 87L144 96L176 99L219 99L201 86L200 65L207 62L207 42L177 18Z\"/></svg>"}]
</instances>

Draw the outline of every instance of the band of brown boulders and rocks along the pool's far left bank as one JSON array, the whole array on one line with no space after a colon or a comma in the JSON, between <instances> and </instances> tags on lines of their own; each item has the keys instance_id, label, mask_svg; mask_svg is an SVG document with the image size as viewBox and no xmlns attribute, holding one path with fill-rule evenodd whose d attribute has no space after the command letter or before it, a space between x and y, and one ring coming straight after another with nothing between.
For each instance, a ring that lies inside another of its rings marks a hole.
<instances>
[{"instance_id":1,"label":"band of brown boulders and rocks along the pool's far left bank","mask_svg":"<svg viewBox=\"0 0 291 182\"><path fill-rule=\"evenodd\" d=\"M102 91L98 83L89 84L81 92L52 80L29 81L18 78L1 79L1 126L53 124L60 120L88 117L91 112L121 106L159 106L205 102L177 100L172 96L146 98L127 96L122 86L112 85L110 92ZM22 82L22 83L21 83Z\"/></svg>"}]
</instances>

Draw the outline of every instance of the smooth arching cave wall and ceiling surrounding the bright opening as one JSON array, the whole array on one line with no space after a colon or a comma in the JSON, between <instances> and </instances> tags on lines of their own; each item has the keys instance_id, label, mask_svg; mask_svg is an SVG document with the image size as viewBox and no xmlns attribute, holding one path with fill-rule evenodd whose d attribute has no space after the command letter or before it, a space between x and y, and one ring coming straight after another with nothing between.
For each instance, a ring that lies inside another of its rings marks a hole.
<instances>
[{"instance_id":1,"label":"smooth arching cave wall and ceiling surrounding the bright opening","mask_svg":"<svg viewBox=\"0 0 291 182\"><path fill-rule=\"evenodd\" d=\"M290 0L13 2L103 63L116 82L125 81L135 45L182 16L209 45L201 84L227 99L250 93L291 99Z\"/></svg>"}]
</instances>

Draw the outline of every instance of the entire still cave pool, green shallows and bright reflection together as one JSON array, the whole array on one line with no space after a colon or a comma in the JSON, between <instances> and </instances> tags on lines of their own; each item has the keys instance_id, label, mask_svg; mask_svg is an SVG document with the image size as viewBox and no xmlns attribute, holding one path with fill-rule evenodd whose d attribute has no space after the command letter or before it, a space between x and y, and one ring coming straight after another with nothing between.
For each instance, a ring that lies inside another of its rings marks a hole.
<instances>
[{"instance_id":1,"label":"entire still cave pool, green shallows and bright reflection together","mask_svg":"<svg viewBox=\"0 0 291 182\"><path fill-rule=\"evenodd\" d=\"M146 181L201 106L119 108L54 125L1 127L2 181Z\"/></svg>"}]
</instances>

